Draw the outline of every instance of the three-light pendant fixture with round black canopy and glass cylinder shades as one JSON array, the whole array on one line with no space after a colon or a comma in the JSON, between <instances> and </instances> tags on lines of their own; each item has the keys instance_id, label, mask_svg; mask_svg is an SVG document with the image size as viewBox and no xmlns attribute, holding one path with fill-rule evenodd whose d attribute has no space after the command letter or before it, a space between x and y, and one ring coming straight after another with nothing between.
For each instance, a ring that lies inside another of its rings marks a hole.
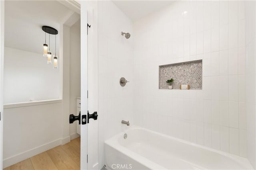
<instances>
[{"instance_id":1,"label":"three-light pendant fixture with round black canopy and glass cylinder shades","mask_svg":"<svg viewBox=\"0 0 256 170\"><path fill-rule=\"evenodd\" d=\"M52 63L52 53L50 52L50 34L55 35L55 55L54 55L54 68L57 68L57 59L58 56L56 55L56 35L58 34L57 29L49 26L42 26L42 30L46 33L49 34L49 50L48 45L46 44L46 35L45 35L45 44L44 44L44 56L47 56L47 63L51 64Z\"/></svg>"}]
</instances>

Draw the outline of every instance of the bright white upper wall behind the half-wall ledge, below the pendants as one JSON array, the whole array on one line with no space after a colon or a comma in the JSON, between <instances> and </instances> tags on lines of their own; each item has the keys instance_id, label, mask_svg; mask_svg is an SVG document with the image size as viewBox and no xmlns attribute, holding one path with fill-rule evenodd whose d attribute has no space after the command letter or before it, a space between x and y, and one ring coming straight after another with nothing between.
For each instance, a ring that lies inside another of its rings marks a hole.
<instances>
[{"instance_id":1,"label":"bright white upper wall behind the half-wall ledge, below the pendants","mask_svg":"<svg viewBox=\"0 0 256 170\"><path fill-rule=\"evenodd\" d=\"M4 104L60 98L59 69L42 54L5 47Z\"/></svg>"}]
</instances>

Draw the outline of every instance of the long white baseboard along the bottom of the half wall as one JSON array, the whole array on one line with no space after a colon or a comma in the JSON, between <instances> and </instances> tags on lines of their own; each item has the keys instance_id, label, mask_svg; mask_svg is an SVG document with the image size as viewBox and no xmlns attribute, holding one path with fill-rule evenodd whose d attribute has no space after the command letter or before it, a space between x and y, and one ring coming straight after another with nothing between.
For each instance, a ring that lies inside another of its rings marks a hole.
<instances>
[{"instance_id":1,"label":"long white baseboard along the bottom of the half wall","mask_svg":"<svg viewBox=\"0 0 256 170\"><path fill-rule=\"evenodd\" d=\"M56 141L46 143L46 144L41 145L39 147L35 147L33 149L22 152L20 154L16 154L14 156L6 158L6 159L3 160L3 168L6 168L6 167L11 166L13 164L16 164L16 163L18 163L22 160L25 160L27 158L30 158L30 157L35 156L37 154L40 154L40 153L42 153L46 150L52 149L52 148L57 147L61 144L62 144L62 139L58 139Z\"/></svg>"}]
</instances>

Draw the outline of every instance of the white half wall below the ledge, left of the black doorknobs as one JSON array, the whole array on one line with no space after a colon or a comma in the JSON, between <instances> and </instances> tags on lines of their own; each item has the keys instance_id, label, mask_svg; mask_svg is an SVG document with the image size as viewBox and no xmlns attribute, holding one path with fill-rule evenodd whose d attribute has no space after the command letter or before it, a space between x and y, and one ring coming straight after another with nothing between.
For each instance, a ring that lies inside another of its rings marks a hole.
<instances>
[{"instance_id":1,"label":"white half wall below the ledge, left of the black doorknobs","mask_svg":"<svg viewBox=\"0 0 256 170\"><path fill-rule=\"evenodd\" d=\"M4 109L4 168L62 143L62 102Z\"/></svg>"}]
</instances>

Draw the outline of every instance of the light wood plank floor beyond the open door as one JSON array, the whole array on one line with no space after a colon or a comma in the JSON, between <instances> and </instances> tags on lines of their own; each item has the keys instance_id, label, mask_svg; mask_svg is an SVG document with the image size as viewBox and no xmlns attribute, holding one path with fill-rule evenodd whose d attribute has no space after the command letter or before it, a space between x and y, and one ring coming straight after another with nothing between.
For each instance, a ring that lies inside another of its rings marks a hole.
<instances>
[{"instance_id":1,"label":"light wood plank floor beyond the open door","mask_svg":"<svg viewBox=\"0 0 256 170\"><path fill-rule=\"evenodd\" d=\"M80 170L80 137L4 170Z\"/></svg>"}]
</instances>

